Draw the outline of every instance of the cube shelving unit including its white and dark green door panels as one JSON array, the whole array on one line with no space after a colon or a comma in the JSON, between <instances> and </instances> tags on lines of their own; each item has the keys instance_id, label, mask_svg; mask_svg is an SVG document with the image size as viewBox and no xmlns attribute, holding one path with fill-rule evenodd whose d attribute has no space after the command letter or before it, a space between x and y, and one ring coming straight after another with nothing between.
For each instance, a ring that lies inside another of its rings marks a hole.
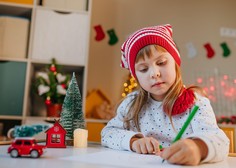
<instances>
[{"instance_id":1,"label":"cube shelving unit including its white and dark green door panels","mask_svg":"<svg viewBox=\"0 0 236 168\"><path fill-rule=\"evenodd\" d=\"M46 118L43 100L33 96L31 90L35 73L49 64L52 58L63 66L64 72L75 72L79 77L85 107L91 3L92 0L86 0L86 9L70 11L42 6L39 0L34 0L33 4L0 0L0 15L30 20L26 57L0 55L0 91L4 91L4 95L0 94L0 123L4 125L4 135L14 125L25 124L27 118ZM16 65L24 69L18 70ZM7 81L9 85L2 81ZM21 84L20 88L18 84Z\"/></svg>"}]
</instances>

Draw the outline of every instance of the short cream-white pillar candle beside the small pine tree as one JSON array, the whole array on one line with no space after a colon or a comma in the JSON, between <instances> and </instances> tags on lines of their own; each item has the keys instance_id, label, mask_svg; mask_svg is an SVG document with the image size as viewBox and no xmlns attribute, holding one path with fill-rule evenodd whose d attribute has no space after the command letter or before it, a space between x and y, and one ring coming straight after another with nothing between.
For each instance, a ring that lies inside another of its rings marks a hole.
<instances>
[{"instance_id":1,"label":"short cream-white pillar candle beside the small pine tree","mask_svg":"<svg viewBox=\"0 0 236 168\"><path fill-rule=\"evenodd\" d=\"M74 130L74 147L86 148L88 145L87 139L88 139L88 130L80 128Z\"/></svg>"}]
</instances>

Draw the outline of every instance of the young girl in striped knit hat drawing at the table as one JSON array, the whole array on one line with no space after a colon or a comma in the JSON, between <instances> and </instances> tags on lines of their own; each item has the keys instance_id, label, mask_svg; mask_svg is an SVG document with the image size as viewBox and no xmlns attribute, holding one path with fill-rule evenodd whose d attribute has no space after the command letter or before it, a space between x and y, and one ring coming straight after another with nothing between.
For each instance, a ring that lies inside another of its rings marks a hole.
<instances>
[{"instance_id":1,"label":"young girl in striped knit hat drawing at the table","mask_svg":"<svg viewBox=\"0 0 236 168\"><path fill-rule=\"evenodd\" d=\"M217 126L209 100L199 87L183 85L171 25L138 30L121 50L121 65L130 70L140 88L121 102L116 117L102 130L102 145L157 154L183 165L227 157L229 140ZM181 140L172 144L195 105L199 109L193 120ZM162 152L159 145L164 147Z\"/></svg>"}]
</instances>

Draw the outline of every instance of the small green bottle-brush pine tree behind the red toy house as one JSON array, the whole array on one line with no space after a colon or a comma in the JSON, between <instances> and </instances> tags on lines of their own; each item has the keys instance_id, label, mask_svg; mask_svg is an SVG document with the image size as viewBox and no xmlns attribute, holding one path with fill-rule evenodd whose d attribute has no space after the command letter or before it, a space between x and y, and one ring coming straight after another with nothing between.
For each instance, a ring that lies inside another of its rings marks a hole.
<instances>
[{"instance_id":1,"label":"small green bottle-brush pine tree behind the red toy house","mask_svg":"<svg viewBox=\"0 0 236 168\"><path fill-rule=\"evenodd\" d=\"M74 72L62 105L60 122L67 131L67 139L73 139L75 129L85 128L82 99Z\"/></svg>"}]
</instances>

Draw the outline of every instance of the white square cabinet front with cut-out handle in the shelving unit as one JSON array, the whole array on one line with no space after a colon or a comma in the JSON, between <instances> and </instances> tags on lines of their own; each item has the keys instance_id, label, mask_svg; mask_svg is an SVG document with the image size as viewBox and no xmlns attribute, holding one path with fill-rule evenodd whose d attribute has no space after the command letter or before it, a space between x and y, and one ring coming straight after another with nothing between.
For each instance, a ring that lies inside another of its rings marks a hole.
<instances>
[{"instance_id":1,"label":"white square cabinet front with cut-out handle in the shelving unit","mask_svg":"<svg viewBox=\"0 0 236 168\"><path fill-rule=\"evenodd\" d=\"M89 19L84 13L36 9L32 59L84 66L87 57ZM53 44L53 45L52 45Z\"/></svg>"}]
</instances>

